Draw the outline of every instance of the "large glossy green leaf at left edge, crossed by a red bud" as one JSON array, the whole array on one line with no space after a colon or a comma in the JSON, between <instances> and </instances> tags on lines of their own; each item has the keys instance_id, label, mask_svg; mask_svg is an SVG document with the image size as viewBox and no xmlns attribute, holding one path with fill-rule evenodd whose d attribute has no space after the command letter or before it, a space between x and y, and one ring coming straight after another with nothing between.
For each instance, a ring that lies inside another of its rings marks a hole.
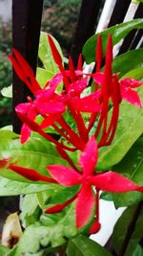
<instances>
[{"instance_id":1,"label":"large glossy green leaf at left edge, crossed by a red bud","mask_svg":"<svg viewBox=\"0 0 143 256\"><path fill-rule=\"evenodd\" d=\"M11 131L7 130L5 133L5 130L0 130L0 137L1 134L3 134L0 142L1 158L11 157L17 165L36 170L41 175L48 175L46 167L50 164L67 165L67 161L60 157L55 147L41 137L31 137L26 144L21 145L19 139L8 139L15 136ZM0 175L13 180L30 182L23 176L6 169L1 169Z\"/></svg>"}]
</instances>

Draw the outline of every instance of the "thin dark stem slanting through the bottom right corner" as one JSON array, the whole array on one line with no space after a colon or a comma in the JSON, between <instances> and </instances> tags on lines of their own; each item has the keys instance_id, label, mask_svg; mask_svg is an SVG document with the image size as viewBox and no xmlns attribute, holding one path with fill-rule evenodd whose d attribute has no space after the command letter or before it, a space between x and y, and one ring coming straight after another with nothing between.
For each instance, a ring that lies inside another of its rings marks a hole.
<instances>
[{"instance_id":1,"label":"thin dark stem slanting through the bottom right corner","mask_svg":"<svg viewBox=\"0 0 143 256\"><path fill-rule=\"evenodd\" d=\"M137 204L137 206L136 206L136 208L134 210L133 219L132 219L132 221L129 224L129 227L128 227L127 232L126 232L125 239L124 239L123 244L122 244L122 246L120 248L118 256L124 256L125 255L125 252L127 250L128 244L130 243L131 237L133 235L135 224L136 224L136 221L137 221L137 219L139 217L139 214L140 214L142 206L143 206L143 200L140 201Z\"/></svg>"}]
</instances>

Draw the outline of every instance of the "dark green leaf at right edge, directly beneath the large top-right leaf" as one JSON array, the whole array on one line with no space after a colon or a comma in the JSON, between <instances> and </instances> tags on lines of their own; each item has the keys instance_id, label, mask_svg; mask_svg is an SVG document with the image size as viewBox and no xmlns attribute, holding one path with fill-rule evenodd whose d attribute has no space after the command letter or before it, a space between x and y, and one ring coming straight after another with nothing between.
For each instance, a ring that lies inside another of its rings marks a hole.
<instances>
[{"instance_id":1,"label":"dark green leaf at right edge, directly beneath the large top-right leaf","mask_svg":"<svg viewBox=\"0 0 143 256\"><path fill-rule=\"evenodd\" d=\"M112 62L112 70L114 73L119 73L120 78L136 68L143 68L143 48L120 55Z\"/></svg>"}]
</instances>

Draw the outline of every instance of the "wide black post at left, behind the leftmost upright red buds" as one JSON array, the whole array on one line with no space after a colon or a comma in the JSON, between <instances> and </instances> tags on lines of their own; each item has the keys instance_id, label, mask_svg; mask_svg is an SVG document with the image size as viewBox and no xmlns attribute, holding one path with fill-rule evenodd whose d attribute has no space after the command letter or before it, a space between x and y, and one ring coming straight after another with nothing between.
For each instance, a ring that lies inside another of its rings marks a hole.
<instances>
[{"instance_id":1,"label":"wide black post at left, behind the leftmost upright red buds","mask_svg":"<svg viewBox=\"0 0 143 256\"><path fill-rule=\"evenodd\" d=\"M12 47L29 62L35 73L39 44L43 0L12 0ZM13 130L20 132L21 122L15 114L15 105L26 102L31 92L13 71L12 118Z\"/></svg>"}]
</instances>

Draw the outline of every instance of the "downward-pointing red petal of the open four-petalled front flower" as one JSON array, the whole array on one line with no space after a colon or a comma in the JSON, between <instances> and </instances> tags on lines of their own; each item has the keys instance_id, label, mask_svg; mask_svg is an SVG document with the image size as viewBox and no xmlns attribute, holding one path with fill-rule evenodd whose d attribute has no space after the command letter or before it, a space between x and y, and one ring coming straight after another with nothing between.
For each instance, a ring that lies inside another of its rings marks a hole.
<instances>
[{"instance_id":1,"label":"downward-pointing red petal of the open four-petalled front flower","mask_svg":"<svg viewBox=\"0 0 143 256\"><path fill-rule=\"evenodd\" d=\"M92 194L92 187L84 185L79 192L76 201L76 226L82 227L92 217L92 207L94 198Z\"/></svg>"}]
</instances>

